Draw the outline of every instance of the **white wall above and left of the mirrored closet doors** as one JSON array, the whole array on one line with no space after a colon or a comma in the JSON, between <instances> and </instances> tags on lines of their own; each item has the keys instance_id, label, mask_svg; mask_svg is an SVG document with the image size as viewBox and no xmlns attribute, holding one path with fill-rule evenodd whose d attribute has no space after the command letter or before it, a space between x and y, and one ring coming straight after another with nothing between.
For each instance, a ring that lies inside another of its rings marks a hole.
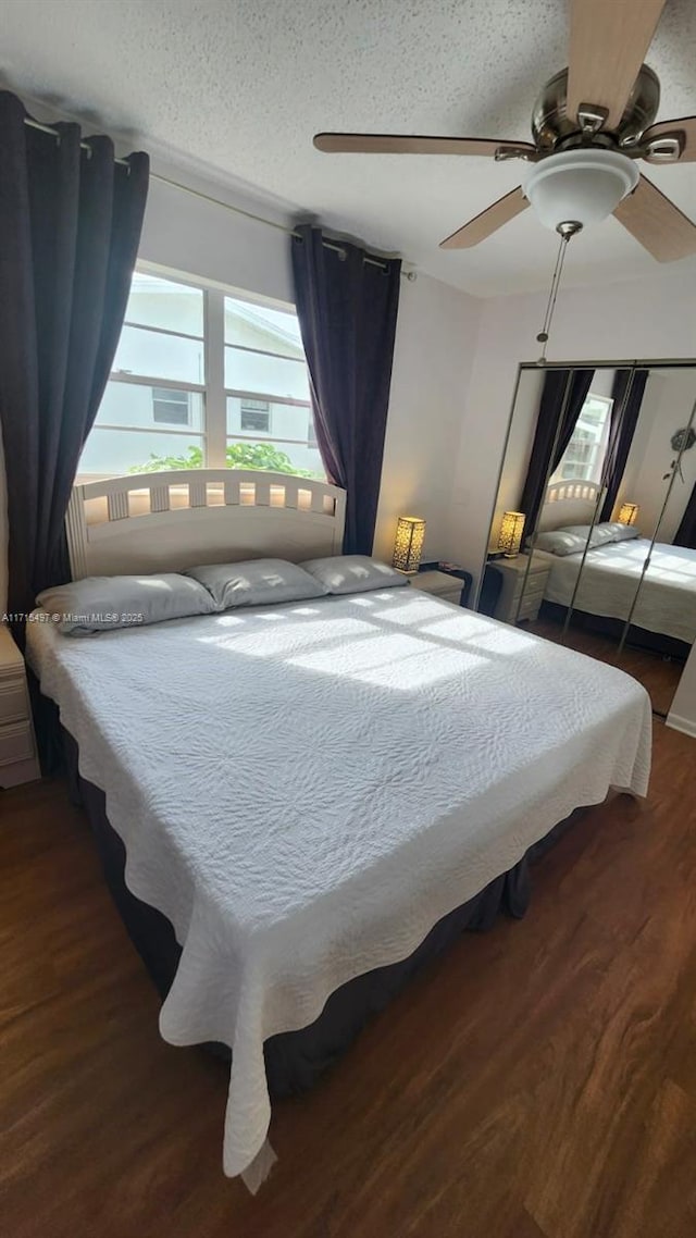
<instances>
[{"instance_id":1,"label":"white wall above and left of the mirrored closet doors","mask_svg":"<svg viewBox=\"0 0 696 1238\"><path fill-rule=\"evenodd\" d=\"M539 355L545 303L544 295L498 297L482 312L450 516L452 557L474 572L485 555L518 364ZM549 360L695 358L695 322L694 281L679 271L601 291L561 290Z\"/></svg>"}]
</instances>

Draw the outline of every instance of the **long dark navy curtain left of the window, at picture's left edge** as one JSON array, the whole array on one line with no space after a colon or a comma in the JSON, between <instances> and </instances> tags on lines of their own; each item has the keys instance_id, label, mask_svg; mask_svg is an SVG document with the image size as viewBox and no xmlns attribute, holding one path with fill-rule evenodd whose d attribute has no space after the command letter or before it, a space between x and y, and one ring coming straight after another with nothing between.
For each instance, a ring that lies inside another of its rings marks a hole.
<instances>
[{"instance_id":1,"label":"long dark navy curtain left of the window, at picture's left edge","mask_svg":"<svg viewBox=\"0 0 696 1238\"><path fill-rule=\"evenodd\" d=\"M25 124L0 92L0 426L7 474L9 605L68 578L63 521L119 342L149 160L109 137ZM14 625L22 639L21 625Z\"/></svg>"}]
</instances>

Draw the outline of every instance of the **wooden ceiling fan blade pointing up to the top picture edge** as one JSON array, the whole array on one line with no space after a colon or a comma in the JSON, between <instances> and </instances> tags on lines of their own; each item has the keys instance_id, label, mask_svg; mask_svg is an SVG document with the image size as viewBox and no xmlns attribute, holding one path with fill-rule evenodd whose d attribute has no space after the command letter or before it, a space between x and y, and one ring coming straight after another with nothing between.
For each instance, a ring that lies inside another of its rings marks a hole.
<instances>
[{"instance_id":1,"label":"wooden ceiling fan blade pointing up to the top picture edge","mask_svg":"<svg viewBox=\"0 0 696 1238\"><path fill-rule=\"evenodd\" d=\"M594 104L617 129L665 0L572 0L568 116Z\"/></svg>"}]
</instances>

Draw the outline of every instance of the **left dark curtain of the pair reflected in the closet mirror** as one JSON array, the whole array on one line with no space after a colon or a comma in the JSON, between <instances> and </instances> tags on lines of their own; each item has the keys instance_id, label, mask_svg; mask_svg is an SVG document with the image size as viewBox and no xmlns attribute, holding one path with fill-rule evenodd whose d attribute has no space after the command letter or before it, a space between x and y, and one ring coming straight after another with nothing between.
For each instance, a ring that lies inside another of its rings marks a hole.
<instances>
[{"instance_id":1,"label":"left dark curtain of the pair reflected in the closet mirror","mask_svg":"<svg viewBox=\"0 0 696 1238\"><path fill-rule=\"evenodd\" d=\"M526 516L528 534L536 526L547 479L557 469L570 444L593 376L594 370L546 371L529 469L519 504L519 510Z\"/></svg>"}]
</instances>

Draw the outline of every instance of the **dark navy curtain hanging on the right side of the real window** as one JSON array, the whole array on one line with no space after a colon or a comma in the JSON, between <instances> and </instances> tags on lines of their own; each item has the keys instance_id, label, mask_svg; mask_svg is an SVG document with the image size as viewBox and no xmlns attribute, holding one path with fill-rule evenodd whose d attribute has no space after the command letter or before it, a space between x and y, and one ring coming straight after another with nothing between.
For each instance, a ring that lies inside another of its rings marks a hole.
<instances>
[{"instance_id":1,"label":"dark navy curtain hanging on the right side of the real window","mask_svg":"<svg viewBox=\"0 0 696 1238\"><path fill-rule=\"evenodd\" d=\"M373 548L401 262L358 245L324 244L303 224L291 238L297 318L310 370L317 444L347 491L346 553Z\"/></svg>"}]
</instances>

